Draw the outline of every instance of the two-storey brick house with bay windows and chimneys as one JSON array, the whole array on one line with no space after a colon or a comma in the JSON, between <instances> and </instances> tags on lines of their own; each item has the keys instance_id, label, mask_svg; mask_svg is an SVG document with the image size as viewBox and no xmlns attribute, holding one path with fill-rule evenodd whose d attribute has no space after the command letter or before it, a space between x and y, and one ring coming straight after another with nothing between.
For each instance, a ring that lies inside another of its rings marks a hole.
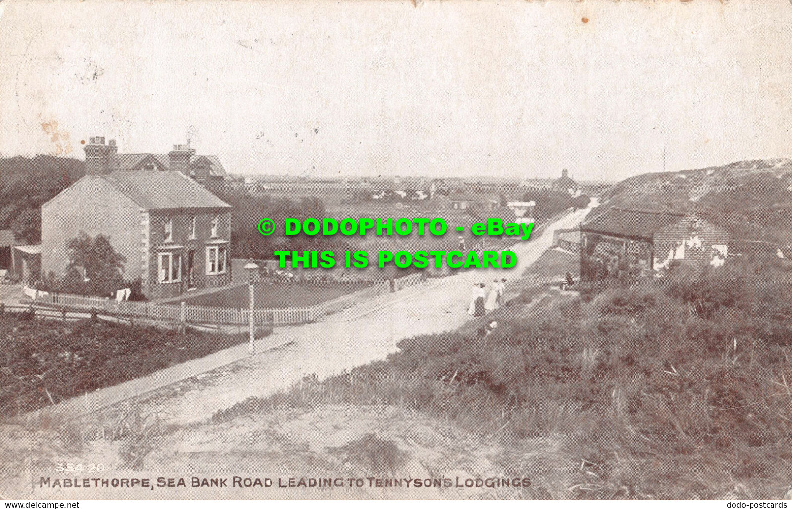
<instances>
[{"instance_id":1,"label":"two-storey brick house with bay windows and chimneys","mask_svg":"<svg viewBox=\"0 0 792 509\"><path fill-rule=\"evenodd\" d=\"M67 242L82 231L109 237L127 260L124 279L140 278L148 298L230 282L231 207L183 171L188 152L169 171L128 171L91 158L93 148L86 177L41 207L44 275L65 274Z\"/></svg>"}]
</instances>

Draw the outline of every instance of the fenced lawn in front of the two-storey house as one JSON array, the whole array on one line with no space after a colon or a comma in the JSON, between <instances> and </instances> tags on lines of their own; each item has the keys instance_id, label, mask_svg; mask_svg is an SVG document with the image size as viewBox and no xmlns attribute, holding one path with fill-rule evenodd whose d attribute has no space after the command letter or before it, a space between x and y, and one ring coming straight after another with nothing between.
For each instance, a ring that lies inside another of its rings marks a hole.
<instances>
[{"instance_id":1,"label":"fenced lawn in front of the two-storey house","mask_svg":"<svg viewBox=\"0 0 792 509\"><path fill-rule=\"evenodd\" d=\"M272 309L284 307L314 306L341 295L367 287L365 282L326 282L326 281L283 281L278 283L257 283L256 308ZM235 287L214 294L196 295L185 298L189 306L212 306L247 308L249 306L248 287Z\"/></svg>"}]
</instances>

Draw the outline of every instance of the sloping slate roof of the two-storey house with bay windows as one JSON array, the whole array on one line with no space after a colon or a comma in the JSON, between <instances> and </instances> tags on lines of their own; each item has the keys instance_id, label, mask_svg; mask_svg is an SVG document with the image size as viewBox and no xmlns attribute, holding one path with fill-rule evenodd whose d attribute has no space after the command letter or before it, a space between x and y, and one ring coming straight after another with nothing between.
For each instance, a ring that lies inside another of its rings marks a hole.
<instances>
[{"instance_id":1,"label":"sloping slate roof of the two-storey house with bay windows","mask_svg":"<svg viewBox=\"0 0 792 509\"><path fill-rule=\"evenodd\" d=\"M179 172L115 171L103 178L147 211L174 208L231 208Z\"/></svg>"}]
</instances>

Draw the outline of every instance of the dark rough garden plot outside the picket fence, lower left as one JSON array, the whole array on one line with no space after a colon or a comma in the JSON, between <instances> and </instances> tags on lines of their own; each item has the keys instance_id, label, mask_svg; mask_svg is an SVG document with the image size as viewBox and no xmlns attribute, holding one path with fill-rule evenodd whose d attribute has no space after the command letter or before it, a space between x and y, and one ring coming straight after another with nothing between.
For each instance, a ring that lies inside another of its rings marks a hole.
<instances>
[{"instance_id":1,"label":"dark rough garden plot outside the picket fence, lower left","mask_svg":"<svg viewBox=\"0 0 792 509\"><path fill-rule=\"evenodd\" d=\"M83 320L0 314L0 418L115 386L246 341Z\"/></svg>"}]
</instances>

